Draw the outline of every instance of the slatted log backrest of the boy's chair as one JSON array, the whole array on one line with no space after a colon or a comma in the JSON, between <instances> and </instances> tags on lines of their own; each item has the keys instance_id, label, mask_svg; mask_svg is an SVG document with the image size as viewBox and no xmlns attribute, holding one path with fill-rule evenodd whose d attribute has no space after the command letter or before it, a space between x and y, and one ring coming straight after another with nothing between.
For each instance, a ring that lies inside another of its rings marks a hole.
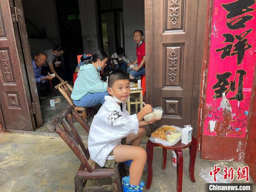
<instances>
[{"instance_id":1,"label":"slatted log backrest of the boy's chair","mask_svg":"<svg viewBox=\"0 0 256 192\"><path fill-rule=\"evenodd\" d=\"M70 116L74 117L82 125L84 130L89 133L89 125L81 116L79 116L78 112L74 111L74 106L72 105L57 115L52 123L47 125L47 129L50 132L55 131L64 140L64 142L81 161L83 169L86 168L88 172L93 172L93 168L88 162L90 157L89 150L84 146L84 143L76 130L75 125L71 121Z\"/></svg>"}]
</instances>

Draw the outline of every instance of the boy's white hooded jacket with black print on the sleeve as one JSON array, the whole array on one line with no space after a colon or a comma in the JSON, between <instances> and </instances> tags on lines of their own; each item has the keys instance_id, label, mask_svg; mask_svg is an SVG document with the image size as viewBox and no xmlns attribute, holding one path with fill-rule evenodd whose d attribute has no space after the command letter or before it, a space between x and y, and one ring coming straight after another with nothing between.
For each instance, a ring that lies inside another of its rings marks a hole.
<instances>
[{"instance_id":1,"label":"boy's white hooded jacket with black print on the sleeve","mask_svg":"<svg viewBox=\"0 0 256 192\"><path fill-rule=\"evenodd\" d=\"M125 102L120 105L110 96L105 96L105 103L94 116L91 123L88 149L91 159L99 166L105 165L110 152L121 144L122 138L130 133L137 134L139 121L136 114L130 115Z\"/></svg>"}]
</instances>

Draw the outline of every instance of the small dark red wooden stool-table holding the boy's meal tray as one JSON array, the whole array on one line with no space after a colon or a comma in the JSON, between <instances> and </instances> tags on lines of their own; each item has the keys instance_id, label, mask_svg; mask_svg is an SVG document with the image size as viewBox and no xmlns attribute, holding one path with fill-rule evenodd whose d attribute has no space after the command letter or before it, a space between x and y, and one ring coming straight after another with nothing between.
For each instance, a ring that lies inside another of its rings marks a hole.
<instances>
[{"instance_id":1,"label":"small dark red wooden stool-table holding the boy's meal tray","mask_svg":"<svg viewBox=\"0 0 256 192\"><path fill-rule=\"evenodd\" d=\"M147 142L147 166L148 166L148 175L147 175L147 184L146 189L149 189L151 186L152 178L153 178L153 153L154 147L162 147L163 150L163 158L162 158L162 169L166 167L166 156L167 149L172 149L177 155L177 192L182 192L182 173L183 173L183 154L182 149L189 147L189 176L191 182L196 182L194 169L196 162L196 148L197 148L197 140L192 136L192 142L185 145L181 143L181 140L173 146L166 147L158 143L152 143L150 140Z\"/></svg>"}]
</instances>

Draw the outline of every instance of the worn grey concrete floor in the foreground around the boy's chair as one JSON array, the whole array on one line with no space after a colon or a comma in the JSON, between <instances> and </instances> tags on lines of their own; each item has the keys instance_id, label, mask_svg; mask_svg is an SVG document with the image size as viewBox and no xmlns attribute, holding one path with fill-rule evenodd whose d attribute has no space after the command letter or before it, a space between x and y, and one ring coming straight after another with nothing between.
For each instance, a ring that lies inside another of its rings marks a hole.
<instances>
[{"instance_id":1,"label":"worn grey concrete floor in the foreground around the boy's chair","mask_svg":"<svg viewBox=\"0 0 256 192\"><path fill-rule=\"evenodd\" d=\"M84 141L87 144L86 141ZM142 145L145 148L145 145ZM218 165L233 166L235 172L240 162L206 161L197 155L195 165L196 183L192 183L188 174L189 153L184 155L183 191L203 192L205 181L199 173L207 167ZM153 181L148 192L176 191L176 167L171 163L172 151L167 152L167 165L161 170L161 148L154 149ZM0 133L0 192L71 192L74 191L74 175L80 165L79 159L64 141L57 137L27 135L18 133ZM146 182L147 173L142 180ZM237 181L234 183L245 182ZM251 178L250 178L251 182ZM87 186L93 185L88 181Z\"/></svg>"}]
</instances>

